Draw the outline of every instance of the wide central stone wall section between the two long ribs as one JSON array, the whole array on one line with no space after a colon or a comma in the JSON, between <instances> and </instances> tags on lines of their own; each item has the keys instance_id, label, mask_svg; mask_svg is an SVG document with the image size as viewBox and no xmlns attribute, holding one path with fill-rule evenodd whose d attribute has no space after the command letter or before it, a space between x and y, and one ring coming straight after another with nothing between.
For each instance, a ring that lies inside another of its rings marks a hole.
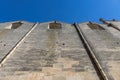
<instances>
[{"instance_id":1,"label":"wide central stone wall section between the two long ribs","mask_svg":"<svg viewBox=\"0 0 120 80\"><path fill-rule=\"evenodd\" d=\"M74 26L38 25L0 68L1 80L99 80Z\"/></svg>"}]
</instances>

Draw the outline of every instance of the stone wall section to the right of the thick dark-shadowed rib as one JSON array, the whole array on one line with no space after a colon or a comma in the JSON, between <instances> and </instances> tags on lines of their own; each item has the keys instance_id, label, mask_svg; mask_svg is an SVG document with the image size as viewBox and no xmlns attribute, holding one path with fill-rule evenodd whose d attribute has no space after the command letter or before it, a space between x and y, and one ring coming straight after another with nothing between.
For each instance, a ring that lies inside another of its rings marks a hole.
<instances>
[{"instance_id":1,"label":"stone wall section to the right of the thick dark-shadowed rib","mask_svg":"<svg viewBox=\"0 0 120 80\"><path fill-rule=\"evenodd\" d=\"M107 26L107 25L106 25ZM103 27L106 30L92 30L86 24L79 24L87 41L110 80L120 79L120 35L115 28ZM115 31L117 33L113 33Z\"/></svg>"}]
</instances>

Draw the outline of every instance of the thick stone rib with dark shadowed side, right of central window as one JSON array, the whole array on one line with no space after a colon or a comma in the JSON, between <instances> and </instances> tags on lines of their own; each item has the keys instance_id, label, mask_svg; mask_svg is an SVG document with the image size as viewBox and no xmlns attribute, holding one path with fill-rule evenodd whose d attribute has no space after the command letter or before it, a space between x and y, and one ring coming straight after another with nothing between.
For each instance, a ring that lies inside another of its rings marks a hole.
<instances>
[{"instance_id":1,"label":"thick stone rib with dark shadowed side, right of central window","mask_svg":"<svg viewBox=\"0 0 120 80\"><path fill-rule=\"evenodd\" d=\"M85 36L83 35L80 27L78 27L77 24L73 24L76 31L78 32L78 35L88 53L88 56L90 57L91 62L93 63L93 66L100 78L100 80L109 80L108 77L106 76L105 72L102 69L102 66L100 65L98 59L96 58L94 51L92 50L90 44L88 43L88 41L85 39Z\"/></svg>"}]
</instances>

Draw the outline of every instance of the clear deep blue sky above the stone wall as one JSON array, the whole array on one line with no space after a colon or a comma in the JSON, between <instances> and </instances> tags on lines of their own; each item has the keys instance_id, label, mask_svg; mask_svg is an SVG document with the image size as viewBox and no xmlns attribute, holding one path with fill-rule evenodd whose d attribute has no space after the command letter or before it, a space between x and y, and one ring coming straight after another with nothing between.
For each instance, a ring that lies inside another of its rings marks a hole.
<instances>
[{"instance_id":1,"label":"clear deep blue sky above the stone wall","mask_svg":"<svg viewBox=\"0 0 120 80\"><path fill-rule=\"evenodd\" d=\"M120 20L120 0L1 0L0 22L27 20L45 22L98 22Z\"/></svg>"}]
</instances>

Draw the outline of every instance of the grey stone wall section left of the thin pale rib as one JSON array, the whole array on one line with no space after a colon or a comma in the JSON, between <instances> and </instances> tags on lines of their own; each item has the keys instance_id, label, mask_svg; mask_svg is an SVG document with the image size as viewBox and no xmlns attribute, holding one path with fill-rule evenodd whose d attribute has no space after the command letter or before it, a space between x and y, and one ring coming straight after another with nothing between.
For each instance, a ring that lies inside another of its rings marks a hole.
<instances>
[{"instance_id":1,"label":"grey stone wall section left of the thin pale rib","mask_svg":"<svg viewBox=\"0 0 120 80\"><path fill-rule=\"evenodd\" d=\"M7 24L0 24L0 61L33 27L33 23L24 22L17 29L5 29Z\"/></svg>"}]
</instances>

